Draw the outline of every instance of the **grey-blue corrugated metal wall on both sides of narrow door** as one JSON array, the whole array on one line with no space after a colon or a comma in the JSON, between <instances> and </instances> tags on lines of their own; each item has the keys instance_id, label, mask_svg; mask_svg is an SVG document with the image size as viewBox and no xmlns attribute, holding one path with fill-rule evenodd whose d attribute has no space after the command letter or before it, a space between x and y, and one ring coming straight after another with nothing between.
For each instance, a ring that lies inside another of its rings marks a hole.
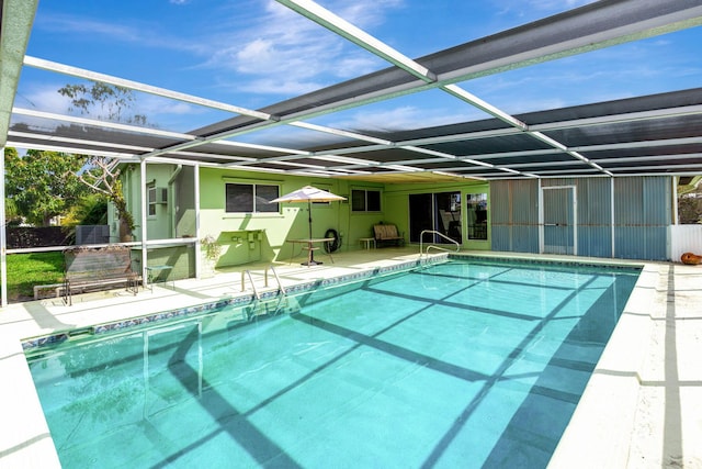
<instances>
[{"instance_id":1,"label":"grey-blue corrugated metal wall on both sides of narrow door","mask_svg":"<svg viewBox=\"0 0 702 469\"><path fill-rule=\"evenodd\" d=\"M669 177L542 179L541 185L576 187L578 256L667 259ZM490 183L494 250L539 253L539 190L531 179Z\"/></svg>"}]
</instances>

